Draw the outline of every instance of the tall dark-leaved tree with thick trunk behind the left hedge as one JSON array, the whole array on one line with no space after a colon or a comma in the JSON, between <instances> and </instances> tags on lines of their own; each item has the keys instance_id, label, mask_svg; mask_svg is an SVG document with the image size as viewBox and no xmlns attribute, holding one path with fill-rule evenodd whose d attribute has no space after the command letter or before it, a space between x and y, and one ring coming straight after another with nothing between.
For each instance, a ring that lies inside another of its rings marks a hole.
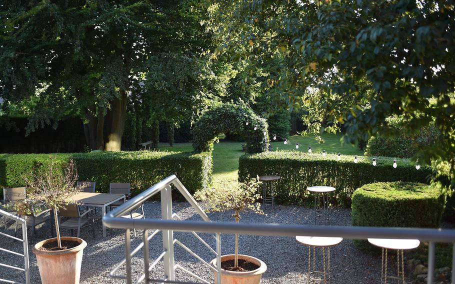
<instances>
[{"instance_id":1,"label":"tall dark-leaved tree with thick trunk behind the left hedge","mask_svg":"<svg viewBox=\"0 0 455 284\"><path fill-rule=\"evenodd\" d=\"M148 58L203 40L190 8L180 0L2 3L2 110L31 101L28 131L79 115L90 148L120 150L128 99L141 90ZM186 34L190 27L196 31Z\"/></svg>"}]
</instances>

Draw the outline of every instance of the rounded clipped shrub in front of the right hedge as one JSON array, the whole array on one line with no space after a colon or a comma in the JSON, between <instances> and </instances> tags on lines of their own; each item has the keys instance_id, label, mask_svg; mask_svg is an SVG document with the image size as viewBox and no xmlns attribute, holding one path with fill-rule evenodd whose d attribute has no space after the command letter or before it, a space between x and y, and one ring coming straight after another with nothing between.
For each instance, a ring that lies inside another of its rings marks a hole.
<instances>
[{"instance_id":1,"label":"rounded clipped shrub in front of the right hedge","mask_svg":"<svg viewBox=\"0 0 455 284\"><path fill-rule=\"evenodd\" d=\"M365 184L352 194L352 225L377 227L439 227L445 195L417 182ZM366 240L354 240L365 251L375 251Z\"/></svg>"}]
</instances>

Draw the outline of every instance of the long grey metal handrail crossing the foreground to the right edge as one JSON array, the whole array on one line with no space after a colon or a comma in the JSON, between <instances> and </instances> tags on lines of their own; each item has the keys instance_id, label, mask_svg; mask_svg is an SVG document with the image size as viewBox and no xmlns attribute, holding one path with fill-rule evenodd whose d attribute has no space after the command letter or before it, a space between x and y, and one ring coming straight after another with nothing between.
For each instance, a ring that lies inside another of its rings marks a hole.
<instances>
[{"instance_id":1,"label":"long grey metal handrail crossing the foreground to the right edge","mask_svg":"<svg viewBox=\"0 0 455 284\"><path fill-rule=\"evenodd\" d=\"M172 220L163 219L125 219L119 216L127 212L131 207L145 201L152 195L168 187L170 184L176 185L177 189L183 186L175 175L156 183L152 187L138 194L129 202L122 204L115 210L103 217L104 225L113 228L127 229L148 229L154 228L163 231L197 231L220 233L240 233L253 235L276 235L291 236L311 235L311 236L332 236L349 239L366 238L396 238L396 239L419 239L428 241L428 277L427 283L433 283L434 269L434 243L449 242L453 243L452 271L455 271L455 229L435 229L435 228L402 228L402 227L361 227L361 226L321 226L321 225L297 225L283 223L234 223L234 222L206 222L193 220ZM184 188L184 187L183 187ZM186 191L187 192L187 191ZM189 193L187 193L189 194ZM194 200L192 196L189 197ZM162 199L161 199L162 202ZM194 201L195 202L195 201ZM197 206L200 209L199 206ZM198 209L196 209L198 211ZM201 210L201 209L200 209ZM203 212L203 211L202 211ZM208 219L208 217L207 217ZM218 251L218 250L217 250ZM219 256L218 256L219 257ZM217 263L219 260L217 260ZM173 270L173 269L172 269ZM218 273L219 275L220 273ZM174 280L174 279L171 279ZM218 282L220 283L220 282ZM455 283L455 272L452 272L452 283Z\"/></svg>"}]
</instances>

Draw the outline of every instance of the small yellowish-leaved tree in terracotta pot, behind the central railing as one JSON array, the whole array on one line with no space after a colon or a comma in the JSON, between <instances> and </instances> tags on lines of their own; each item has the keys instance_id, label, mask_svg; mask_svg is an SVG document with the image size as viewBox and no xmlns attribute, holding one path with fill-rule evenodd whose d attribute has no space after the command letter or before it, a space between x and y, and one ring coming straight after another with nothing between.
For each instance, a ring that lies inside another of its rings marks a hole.
<instances>
[{"instance_id":1,"label":"small yellowish-leaved tree in terracotta pot, behind the central railing","mask_svg":"<svg viewBox=\"0 0 455 284\"><path fill-rule=\"evenodd\" d=\"M240 212L251 210L263 214L260 203L255 202L259 197L258 178L252 178L243 183L232 183L227 186L207 188L195 193L198 200L205 203L209 211L232 210L235 222L240 221ZM210 261L216 267L216 258ZM221 282L223 284L259 284L267 265L253 256L238 254L238 233L235 234L234 254L221 256ZM213 269L215 282L216 271Z\"/></svg>"}]
</instances>

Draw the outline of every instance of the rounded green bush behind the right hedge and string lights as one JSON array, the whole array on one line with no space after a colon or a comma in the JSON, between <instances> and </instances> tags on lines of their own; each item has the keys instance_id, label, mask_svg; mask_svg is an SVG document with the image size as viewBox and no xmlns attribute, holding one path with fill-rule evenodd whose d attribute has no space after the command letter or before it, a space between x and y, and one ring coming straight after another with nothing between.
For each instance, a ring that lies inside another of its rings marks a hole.
<instances>
[{"instance_id":1,"label":"rounded green bush behind the right hedge and string lights","mask_svg":"<svg viewBox=\"0 0 455 284\"><path fill-rule=\"evenodd\" d=\"M439 131L434 126L434 123L423 127L416 134L405 134L407 122L405 119L398 117L387 118L384 127L389 128L390 132L395 133L394 136L372 136L366 145L365 155L400 158L412 157L419 148L429 146L439 135Z\"/></svg>"}]
</instances>

